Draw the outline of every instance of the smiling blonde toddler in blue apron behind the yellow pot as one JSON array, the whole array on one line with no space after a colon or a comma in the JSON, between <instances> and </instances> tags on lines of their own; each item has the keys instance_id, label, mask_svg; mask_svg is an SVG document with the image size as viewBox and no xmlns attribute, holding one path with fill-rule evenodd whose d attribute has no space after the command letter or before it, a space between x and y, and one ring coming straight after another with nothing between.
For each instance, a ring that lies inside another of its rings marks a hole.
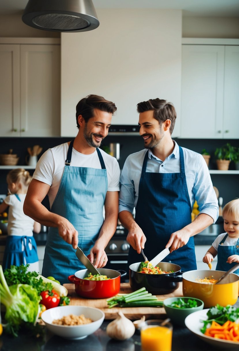
<instances>
[{"instance_id":1,"label":"smiling blonde toddler in blue apron behind the yellow pot","mask_svg":"<svg viewBox=\"0 0 239 351\"><path fill-rule=\"evenodd\" d=\"M239 263L239 199L228 202L222 215L225 233L219 234L213 241L203 262L209 264L218 255L216 270L228 271ZM234 273L239 274L239 269Z\"/></svg>"}]
</instances>

